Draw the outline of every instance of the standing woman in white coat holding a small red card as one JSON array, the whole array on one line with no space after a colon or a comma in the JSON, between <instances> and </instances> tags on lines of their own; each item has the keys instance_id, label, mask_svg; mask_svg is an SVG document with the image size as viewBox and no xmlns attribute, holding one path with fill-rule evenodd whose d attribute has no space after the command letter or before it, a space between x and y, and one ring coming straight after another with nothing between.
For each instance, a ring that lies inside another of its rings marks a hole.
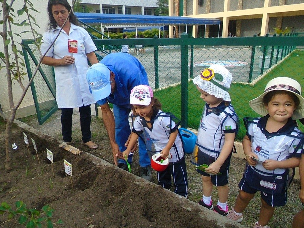
<instances>
[{"instance_id":1,"label":"standing woman in white coat holding a small red card","mask_svg":"<svg viewBox=\"0 0 304 228\"><path fill-rule=\"evenodd\" d=\"M72 141L73 108L78 107L82 141L90 149L97 149L98 145L91 141L90 130L91 104L95 101L86 81L88 60L91 64L98 63L94 53L97 48L88 32L78 26L73 12L68 17L70 9L71 6L67 0L49 0L47 12L50 23L48 31L43 34L41 44L41 53L46 53L42 64L54 67L56 102L58 108L61 109L61 133L64 142L69 144ZM57 40L51 45L60 28L62 30ZM69 53L69 42L73 42L76 46L76 53Z\"/></svg>"}]
</instances>

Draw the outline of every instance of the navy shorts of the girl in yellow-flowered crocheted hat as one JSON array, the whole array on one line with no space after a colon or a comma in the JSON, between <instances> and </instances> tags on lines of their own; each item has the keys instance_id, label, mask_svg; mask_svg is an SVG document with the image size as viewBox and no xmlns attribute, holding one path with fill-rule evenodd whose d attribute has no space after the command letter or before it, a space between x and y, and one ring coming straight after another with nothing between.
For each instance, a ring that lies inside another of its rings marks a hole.
<instances>
[{"instance_id":1,"label":"navy shorts of the girl in yellow-flowered crocheted hat","mask_svg":"<svg viewBox=\"0 0 304 228\"><path fill-rule=\"evenodd\" d=\"M221 166L221 168L219 168L219 172L222 174L219 175L210 175L208 173L205 173L199 169L196 169L196 171L206 177L211 177L211 182L213 185L215 186L224 186L228 184L228 174L229 174L229 166L230 166L230 158L231 158L231 154L227 157L227 159L225 160L225 162L223 163L223 165ZM202 165L202 164L207 164L210 165L213 162L216 161L216 157L212 157L208 154L205 154L204 152L202 152L202 150L198 150L197 152L197 162L198 162L198 166Z\"/></svg>"}]
</instances>

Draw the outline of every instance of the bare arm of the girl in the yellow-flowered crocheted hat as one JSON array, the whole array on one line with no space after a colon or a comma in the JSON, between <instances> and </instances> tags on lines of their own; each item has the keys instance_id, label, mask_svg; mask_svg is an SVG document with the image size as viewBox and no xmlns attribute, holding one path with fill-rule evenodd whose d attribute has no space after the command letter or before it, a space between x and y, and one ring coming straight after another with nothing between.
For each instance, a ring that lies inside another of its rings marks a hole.
<instances>
[{"instance_id":1,"label":"bare arm of the girl in the yellow-flowered crocheted hat","mask_svg":"<svg viewBox=\"0 0 304 228\"><path fill-rule=\"evenodd\" d=\"M221 168L232 151L234 138L235 133L225 133L225 142L221 152L219 153L219 157L205 169L206 172L210 174L217 174L219 172L219 168Z\"/></svg>"}]
</instances>

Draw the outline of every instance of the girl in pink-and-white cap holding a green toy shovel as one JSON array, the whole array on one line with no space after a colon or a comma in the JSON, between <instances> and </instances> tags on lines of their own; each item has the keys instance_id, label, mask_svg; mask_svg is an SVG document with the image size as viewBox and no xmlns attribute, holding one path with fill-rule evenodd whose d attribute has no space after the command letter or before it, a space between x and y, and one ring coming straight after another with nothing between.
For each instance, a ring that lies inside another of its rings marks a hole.
<instances>
[{"instance_id":1,"label":"girl in pink-and-white cap holding a green toy shovel","mask_svg":"<svg viewBox=\"0 0 304 228\"><path fill-rule=\"evenodd\" d=\"M158 185L170 189L171 175L174 192L188 196L188 178L183 143L178 131L180 121L171 113L161 111L161 103L153 97L152 89L147 85L138 85L131 90L130 104L133 106L132 134L123 157L128 156L132 145L141 137L146 144L150 157L162 154L169 166L164 171L157 171ZM170 158L170 157L169 157Z\"/></svg>"}]
</instances>

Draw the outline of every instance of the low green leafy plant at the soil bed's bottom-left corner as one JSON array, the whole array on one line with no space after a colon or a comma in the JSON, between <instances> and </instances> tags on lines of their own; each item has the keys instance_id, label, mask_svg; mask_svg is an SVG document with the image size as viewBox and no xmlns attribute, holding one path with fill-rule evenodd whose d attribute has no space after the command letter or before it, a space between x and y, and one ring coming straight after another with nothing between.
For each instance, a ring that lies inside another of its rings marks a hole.
<instances>
[{"instance_id":1,"label":"low green leafy plant at the soil bed's bottom-left corner","mask_svg":"<svg viewBox=\"0 0 304 228\"><path fill-rule=\"evenodd\" d=\"M26 226L26 228L42 227L43 223L47 224L47 228L53 228L55 224L63 224L59 219L56 223L52 223L54 209L46 205L42 208L42 212L36 209L28 209L22 201L15 203L16 209L13 210L7 202L2 202L0 206L0 214L8 213L8 219L11 220L15 216L19 217L19 224ZM5 221L8 222L9 220Z\"/></svg>"}]
</instances>

